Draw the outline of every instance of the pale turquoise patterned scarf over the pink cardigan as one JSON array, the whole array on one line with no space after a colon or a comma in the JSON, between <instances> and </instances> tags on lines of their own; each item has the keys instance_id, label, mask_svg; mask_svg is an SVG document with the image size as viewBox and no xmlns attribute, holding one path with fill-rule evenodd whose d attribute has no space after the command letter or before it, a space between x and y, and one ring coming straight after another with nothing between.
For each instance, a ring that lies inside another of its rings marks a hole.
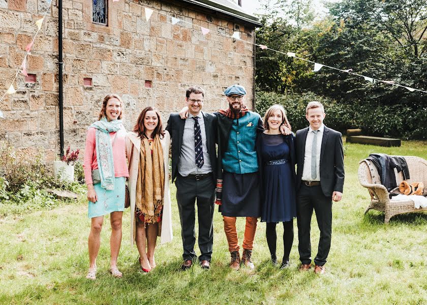
<instances>
[{"instance_id":1,"label":"pale turquoise patterned scarf over the pink cardigan","mask_svg":"<svg viewBox=\"0 0 427 305\"><path fill-rule=\"evenodd\" d=\"M96 128L97 162L99 175L101 178L101 187L105 190L114 190L114 160L113 146L111 143L110 132L125 130L121 119L107 121L104 116L89 127ZM117 136L117 135L116 135Z\"/></svg>"}]
</instances>

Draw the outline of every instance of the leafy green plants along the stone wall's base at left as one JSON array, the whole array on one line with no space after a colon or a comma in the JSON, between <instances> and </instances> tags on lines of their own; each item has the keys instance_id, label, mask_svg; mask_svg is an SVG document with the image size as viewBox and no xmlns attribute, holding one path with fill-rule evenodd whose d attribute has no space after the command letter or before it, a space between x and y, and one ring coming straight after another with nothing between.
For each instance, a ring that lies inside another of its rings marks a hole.
<instances>
[{"instance_id":1,"label":"leafy green plants along the stone wall's base at left","mask_svg":"<svg viewBox=\"0 0 427 305\"><path fill-rule=\"evenodd\" d=\"M85 192L78 182L55 179L43 157L40 149L35 158L25 159L8 143L0 143L0 215L52 208L67 201L57 199L47 189Z\"/></svg>"}]
</instances>

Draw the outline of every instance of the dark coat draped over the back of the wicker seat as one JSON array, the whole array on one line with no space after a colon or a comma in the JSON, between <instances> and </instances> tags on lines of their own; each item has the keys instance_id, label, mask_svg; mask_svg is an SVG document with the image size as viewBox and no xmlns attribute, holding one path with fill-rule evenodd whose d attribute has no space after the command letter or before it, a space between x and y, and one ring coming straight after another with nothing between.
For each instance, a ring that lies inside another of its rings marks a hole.
<instances>
[{"instance_id":1,"label":"dark coat draped over the back of the wicker seat","mask_svg":"<svg viewBox=\"0 0 427 305\"><path fill-rule=\"evenodd\" d=\"M406 163L405 158L402 156L371 154L366 159L374 163L378 170L378 174L380 175L381 184L386 187L388 192L398 186L396 184L394 168L398 171L398 173L402 172L404 180L410 178L408 164Z\"/></svg>"}]
</instances>

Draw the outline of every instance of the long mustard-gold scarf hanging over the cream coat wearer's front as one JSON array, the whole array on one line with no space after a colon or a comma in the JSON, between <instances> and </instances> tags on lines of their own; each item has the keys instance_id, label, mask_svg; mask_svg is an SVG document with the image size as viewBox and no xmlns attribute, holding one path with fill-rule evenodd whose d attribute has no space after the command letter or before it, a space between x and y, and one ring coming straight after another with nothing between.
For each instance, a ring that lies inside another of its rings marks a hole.
<instances>
[{"instance_id":1,"label":"long mustard-gold scarf hanging over the cream coat wearer's front","mask_svg":"<svg viewBox=\"0 0 427 305\"><path fill-rule=\"evenodd\" d=\"M155 211L163 204L165 164L160 137L153 139L153 154L147 138L141 140L138 179L136 181L136 206L148 222L155 223ZM169 183L169 182L168 182Z\"/></svg>"}]
</instances>

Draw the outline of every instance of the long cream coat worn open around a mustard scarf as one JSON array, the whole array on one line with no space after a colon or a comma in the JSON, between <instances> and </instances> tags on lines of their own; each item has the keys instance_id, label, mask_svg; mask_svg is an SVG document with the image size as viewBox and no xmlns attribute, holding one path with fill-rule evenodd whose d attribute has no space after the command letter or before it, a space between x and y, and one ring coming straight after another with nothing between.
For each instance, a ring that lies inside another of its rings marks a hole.
<instances>
[{"instance_id":1,"label":"long cream coat worn open around a mustard scarf","mask_svg":"<svg viewBox=\"0 0 427 305\"><path fill-rule=\"evenodd\" d=\"M170 135L165 131L165 137L160 139L163 149L163 159L165 162L165 190L164 190L164 202L163 202L163 216L162 216L162 231L160 236L160 242L166 243L172 240L172 216L171 216L171 203L170 203L170 192L169 192L169 147L170 147ZM134 152L132 155L132 144L134 144ZM126 135L126 156L128 162L132 155L132 167L129 169L129 180L128 188L131 199L131 245L135 241L136 235L136 219L135 219L135 194L136 194L136 180L138 178L138 167L139 167L139 150L141 148L141 139L135 132L128 132Z\"/></svg>"}]
</instances>

